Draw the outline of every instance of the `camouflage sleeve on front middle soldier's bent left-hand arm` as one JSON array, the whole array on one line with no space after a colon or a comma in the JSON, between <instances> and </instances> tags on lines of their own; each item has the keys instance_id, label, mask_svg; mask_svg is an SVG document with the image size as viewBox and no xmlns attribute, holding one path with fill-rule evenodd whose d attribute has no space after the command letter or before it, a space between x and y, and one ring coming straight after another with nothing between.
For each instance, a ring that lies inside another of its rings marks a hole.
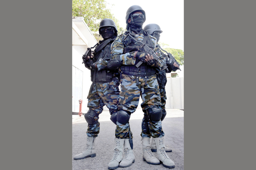
<instances>
[{"instance_id":1,"label":"camouflage sleeve on front middle soldier's bent left-hand arm","mask_svg":"<svg viewBox=\"0 0 256 170\"><path fill-rule=\"evenodd\" d=\"M134 65L135 64L135 52L124 53L124 45L122 40L125 38L125 35L119 35L111 47L110 58L115 60L120 60L123 65Z\"/></svg>"}]
</instances>

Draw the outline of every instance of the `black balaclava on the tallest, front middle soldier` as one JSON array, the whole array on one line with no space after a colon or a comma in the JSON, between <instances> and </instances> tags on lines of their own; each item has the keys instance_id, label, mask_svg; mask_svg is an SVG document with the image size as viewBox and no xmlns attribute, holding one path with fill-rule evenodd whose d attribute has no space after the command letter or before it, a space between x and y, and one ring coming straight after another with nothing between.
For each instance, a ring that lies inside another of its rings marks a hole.
<instances>
[{"instance_id":1,"label":"black balaclava on the tallest, front middle soldier","mask_svg":"<svg viewBox=\"0 0 256 170\"><path fill-rule=\"evenodd\" d=\"M142 26L145 20L141 18L141 16L139 16L138 18L134 18L131 16L131 20L132 21L130 23L127 23L126 29L128 30L130 27L130 29L136 34L141 34L143 32Z\"/></svg>"}]
</instances>

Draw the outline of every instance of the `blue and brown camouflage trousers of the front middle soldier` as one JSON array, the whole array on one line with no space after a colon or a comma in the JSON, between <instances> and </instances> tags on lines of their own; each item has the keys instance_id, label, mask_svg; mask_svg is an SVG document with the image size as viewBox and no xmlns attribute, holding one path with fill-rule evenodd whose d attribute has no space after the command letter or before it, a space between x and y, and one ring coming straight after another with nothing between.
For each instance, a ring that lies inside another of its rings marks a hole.
<instances>
[{"instance_id":1,"label":"blue and brown camouflage trousers of the front middle soldier","mask_svg":"<svg viewBox=\"0 0 256 170\"><path fill-rule=\"evenodd\" d=\"M141 96L141 107L147 110L151 107L160 107L161 97L156 75L149 77L136 77L131 75L121 75L121 94L119 97L118 108L128 113L134 113ZM149 120L149 132L152 136L163 136L161 121L154 122ZM121 124L117 121L115 137L128 138L129 122Z\"/></svg>"}]
</instances>

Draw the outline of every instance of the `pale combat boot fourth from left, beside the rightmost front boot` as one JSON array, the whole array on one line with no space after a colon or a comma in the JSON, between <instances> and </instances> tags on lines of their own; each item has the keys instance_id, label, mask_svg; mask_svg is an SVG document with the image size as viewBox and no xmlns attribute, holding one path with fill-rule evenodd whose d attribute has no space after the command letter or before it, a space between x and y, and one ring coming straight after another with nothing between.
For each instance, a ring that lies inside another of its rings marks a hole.
<instances>
[{"instance_id":1,"label":"pale combat boot fourth from left, beside the rightmost front boot","mask_svg":"<svg viewBox=\"0 0 256 170\"><path fill-rule=\"evenodd\" d=\"M141 141L143 150L143 161L146 161L148 164L159 165L160 161L151 152L150 137L143 137Z\"/></svg>"}]
</instances>

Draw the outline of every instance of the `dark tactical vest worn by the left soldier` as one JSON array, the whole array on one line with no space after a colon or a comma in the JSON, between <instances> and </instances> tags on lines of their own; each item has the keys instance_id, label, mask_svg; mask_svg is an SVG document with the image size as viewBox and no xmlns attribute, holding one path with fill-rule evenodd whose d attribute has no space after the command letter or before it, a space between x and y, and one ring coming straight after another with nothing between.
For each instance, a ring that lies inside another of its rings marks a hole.
<instances>
[{"instance_id":1,"label":"dark tactical vest worn by the left soldier","mask_svg":"<svg viewBox=\"0 0 256 170\"><path fill-rule=\"evenodd\" d=\"M93 62L99 61L100 58L106 61L110 60L110 47L111 43L115 40L115 38L116 37L111 38L111 41L94 55L95 60ZM96 47L94 51L97 51L98 47ZM111 82L117 75L117 70L113 71L108 69L102 69L98 71L98 69L91 69L91 81L96 84Z\"/></svg>"}]
</instances>

